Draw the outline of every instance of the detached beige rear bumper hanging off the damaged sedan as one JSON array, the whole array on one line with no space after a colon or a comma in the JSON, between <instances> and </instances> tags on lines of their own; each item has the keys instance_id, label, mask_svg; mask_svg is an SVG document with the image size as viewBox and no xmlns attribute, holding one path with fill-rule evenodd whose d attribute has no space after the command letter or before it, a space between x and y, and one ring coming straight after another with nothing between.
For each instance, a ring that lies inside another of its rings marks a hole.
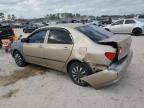
<instances>
[{"instance_id":1,"label":"detached beige rear bumper hanging off the damaged sedan","mask_svg":"<svg viewBox=\"0 0 144 108\"><path fill-rule=\"evenodd\" d=\"M120 80L123 73L126 71L128 65L130 64L132 56L133 52L130 51L126 58L119 61L118 63L112 64L108 69L83 77L81 79L89 83L94 88L113 84Z\"/></svg>"}]
</instances>

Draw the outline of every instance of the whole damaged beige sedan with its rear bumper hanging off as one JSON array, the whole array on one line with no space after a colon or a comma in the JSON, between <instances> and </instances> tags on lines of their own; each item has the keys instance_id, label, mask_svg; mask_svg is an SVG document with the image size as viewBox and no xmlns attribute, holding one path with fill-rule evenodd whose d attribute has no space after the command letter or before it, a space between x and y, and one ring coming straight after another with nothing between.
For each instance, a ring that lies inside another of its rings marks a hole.
<instances>
[{"instance_id":1,"label":"whole damaged beige sedan with its rear bumper hanging off","mask_svg":"<svg viewBox=\"0 0 144 108\"><path fill-rule=\"evenodd\" d=\"M34 63L69 74L80 86L100 87L121 78L132 58L130 36L102 27L62 24L43 27L12 44L18 66Z\"/></svg>"}]
</instances>

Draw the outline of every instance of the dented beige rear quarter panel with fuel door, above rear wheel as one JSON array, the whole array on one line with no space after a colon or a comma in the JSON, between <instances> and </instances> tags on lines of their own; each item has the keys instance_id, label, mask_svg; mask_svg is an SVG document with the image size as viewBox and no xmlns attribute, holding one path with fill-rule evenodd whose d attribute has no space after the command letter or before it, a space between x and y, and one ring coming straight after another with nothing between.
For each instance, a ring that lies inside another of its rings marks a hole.
<instances>
[{"instance_id":1,"label":"dented beige rear quarter panel with fuel door, above rear wheel","mask_svg":"<svg viewBox=\"0 0 144 108\"><path fill-rule=\"evenodd\" d=\"M79 60L89 65L108 66L111 61L105 57L105 52L115 52L116 49L108 45L100 45L76 30L69 30L73 37L74 47L69 60Z\"/></svg>"}]
</instances>

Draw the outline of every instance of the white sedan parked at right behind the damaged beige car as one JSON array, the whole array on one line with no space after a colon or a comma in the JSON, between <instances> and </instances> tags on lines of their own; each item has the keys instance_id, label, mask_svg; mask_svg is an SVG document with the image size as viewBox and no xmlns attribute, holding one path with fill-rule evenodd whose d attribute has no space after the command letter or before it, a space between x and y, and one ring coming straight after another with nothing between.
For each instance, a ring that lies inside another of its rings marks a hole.
<instances>
[{"instance_id":1,"label":"white sedan parked at right behind the damaged beige car","mask_svg":"<svg viewBox=\"0 0 144 108\"><path fill-rule=\"evenodd\" d=\"M112 33L141 35L144 34L144 23L135 19L121 19L105 26L105 29Z\"/></svg>"}]
</instances>

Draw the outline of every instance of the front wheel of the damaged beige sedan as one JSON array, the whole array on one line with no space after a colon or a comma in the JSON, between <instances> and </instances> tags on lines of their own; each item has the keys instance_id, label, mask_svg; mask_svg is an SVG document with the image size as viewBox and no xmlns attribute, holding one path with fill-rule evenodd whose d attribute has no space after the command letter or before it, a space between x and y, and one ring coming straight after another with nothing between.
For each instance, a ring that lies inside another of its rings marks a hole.
<instances>
[{"instance_id":1,"label":"front wheel of the damaged beige sedan","mask_svg":"<svg viewBox=\"0 0 144 108\"><path fill-rule=\"evenodd\" d=\"M18 51L14 52L14 59L15 59L16 64L19 67L24 67L24 66L27 65L27 63L25 62L23 56Z\"/></svg>"}]
</instances>

